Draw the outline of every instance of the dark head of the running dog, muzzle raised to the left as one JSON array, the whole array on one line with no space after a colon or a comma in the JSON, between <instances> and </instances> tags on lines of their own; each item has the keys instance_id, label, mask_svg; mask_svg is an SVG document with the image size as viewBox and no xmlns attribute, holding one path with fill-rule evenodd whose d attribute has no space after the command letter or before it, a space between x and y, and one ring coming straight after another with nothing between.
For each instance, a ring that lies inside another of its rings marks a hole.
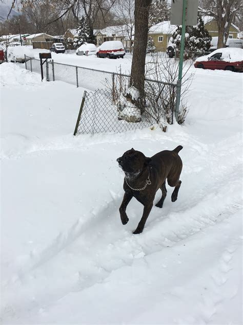
<instances>
[{"instance_id":1,"label":"dark head of the running dog, muzzle raised to the left","mask_svg":"<svg viewBox=\"0 0 243 325\"><path fill-rule=\"evenodd\" d=\"M143 152L136 151L133 148L116 159L125 173L137 173L143 170L150 160L151 158L146 157Z\"/></svg>"}]
</instances>

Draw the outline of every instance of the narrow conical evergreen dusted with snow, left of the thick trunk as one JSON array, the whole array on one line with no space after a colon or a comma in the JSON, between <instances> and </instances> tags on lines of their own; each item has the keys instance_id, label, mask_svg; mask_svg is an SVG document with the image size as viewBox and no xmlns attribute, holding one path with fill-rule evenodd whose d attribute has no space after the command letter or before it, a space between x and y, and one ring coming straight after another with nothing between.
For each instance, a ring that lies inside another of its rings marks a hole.
<instances>
[{"instance_id":1,"label":"narrow conical evergreen dusted with snow, left of the thick trunk","mask_svg":"<svg viewBox=\"0 0 243 325\"><path fill-rule=\"evenodd\" d=\"M77 39L73 42L75 47L79 47L84 43L94 43L93 30L89 20L84 16L78 21L77 35Z\"/></svg>"}]
</instances>

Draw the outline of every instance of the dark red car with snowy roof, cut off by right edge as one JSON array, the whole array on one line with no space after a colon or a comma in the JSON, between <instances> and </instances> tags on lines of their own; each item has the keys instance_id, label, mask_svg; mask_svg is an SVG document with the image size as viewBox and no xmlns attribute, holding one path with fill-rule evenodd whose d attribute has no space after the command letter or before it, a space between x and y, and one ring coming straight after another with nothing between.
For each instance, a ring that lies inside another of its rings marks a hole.
<instances>
[{"instance_id":1,"label":"dark red car with snowy roof, cut off by right edge","mask_svg":"<svg viewBox=\"0 0 243 325\"><path fill-rule=\"evenodd\" d=\"M211 70L243 71L243 49L241 48L218 48L209 56L197 58L195 68Z\"/></svg>"}]
</instances>

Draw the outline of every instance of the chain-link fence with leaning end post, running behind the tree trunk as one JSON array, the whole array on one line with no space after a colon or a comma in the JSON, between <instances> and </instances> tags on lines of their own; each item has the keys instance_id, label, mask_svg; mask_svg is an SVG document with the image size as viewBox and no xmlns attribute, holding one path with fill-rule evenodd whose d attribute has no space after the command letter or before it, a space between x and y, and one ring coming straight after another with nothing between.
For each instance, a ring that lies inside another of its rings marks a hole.
<instances>
[{"instance_id":1,"label":"chain-link fence with leaning end post, running behind the tree trunk","mask_svg":"<svg viewBox=\"0 0 243 325\"><path fill-rule=\"evenodd\" d=\"M25 67L40 73L40 60L26 56ZM174 83L145 79L146 110L141 121L132 123L119 116L119 99L129 89L130 76L53 60L47 60L43 65L43 74L48 81L60 80L86 89L74 135L143 129L158 123L160 117L173 123L176 101Z\"/></svg>"}]
</instances>

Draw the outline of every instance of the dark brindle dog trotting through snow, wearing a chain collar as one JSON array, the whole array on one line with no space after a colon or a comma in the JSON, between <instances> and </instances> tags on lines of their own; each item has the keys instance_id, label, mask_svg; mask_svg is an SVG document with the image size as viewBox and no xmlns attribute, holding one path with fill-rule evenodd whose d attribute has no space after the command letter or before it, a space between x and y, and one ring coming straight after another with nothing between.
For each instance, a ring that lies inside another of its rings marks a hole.
<instances>
[{"instance_id":1,"label":"dark brindle dog trotting through snow, wearing a chain collar","mask_svg":"<svg viewBox=\"0 0 243 325\"><path fill-rule=\"evenodd\" d=\"M134 196L138 202L143 204L144 212L141 220L133 233L143 231L146 220L153 206L155 193L160 188L162 196L156 207L162 208L166 198L166 179L171 187L175 187L171 195L171 201L177 200L181 180L179 180L183 163L178 152L183 147L178 146L174 150L164 150L156 153L151 158L133 148L126 151L122 157L116 159L119 166L125 172L124 198L119 208L120 219L126 225L129 221L126 208Z\"/></svg>"}]
</instances>

